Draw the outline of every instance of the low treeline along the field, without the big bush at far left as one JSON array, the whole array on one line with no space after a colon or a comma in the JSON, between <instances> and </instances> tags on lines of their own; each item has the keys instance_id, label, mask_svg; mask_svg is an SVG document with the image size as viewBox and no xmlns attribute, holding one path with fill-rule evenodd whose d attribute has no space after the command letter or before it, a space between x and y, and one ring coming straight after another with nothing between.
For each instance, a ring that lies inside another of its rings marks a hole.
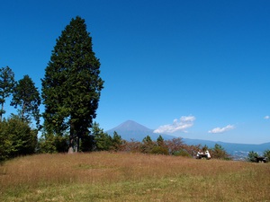
<instances>
[{"instance_id":1,"label":"low treeline along the field, without the big bush at far left","mask_svg":"<svg viewBox=\"0 0 270 202\"><path fill-rule=\"evenodd\" d=\"M67 151L67 138L47 136L40 139L40 153L58 153ZM171 140L164 140L162 136L158 136L157 140L152 140L150 136L146 136L141 142L135 140L123 140L121 135L114 131L113 135L103 131L99 124L93 124L88 140L82 141L79 145L79 152L128 152L143 154L164 154L175 156L193 157L199 150L205 152L208 150L211 157L215 159L229 160L230 156L225 149L216 144L213 148L207 145L186 145L181 137Z\"/></svg>"}]
</instances>

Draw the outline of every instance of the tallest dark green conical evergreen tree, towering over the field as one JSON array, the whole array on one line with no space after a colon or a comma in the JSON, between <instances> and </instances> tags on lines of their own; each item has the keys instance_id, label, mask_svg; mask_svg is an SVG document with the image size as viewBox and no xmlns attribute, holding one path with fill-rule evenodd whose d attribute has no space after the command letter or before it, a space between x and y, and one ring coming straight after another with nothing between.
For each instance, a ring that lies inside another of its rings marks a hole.
<instances>
[{"instance_id":1,"label":"tallest dark green conical evergreen tree, towering over the field","mask_svg":"<svg viewBox=\"0 0 270 202\"><path fill-rule=\"evenodd\" d=\"M92 49L85 20L76 17L67 25L52 51L42 81L44 125L61 135L69 130L69 149L88 134L103 89L100 62Z\"/></svg>"}]
</instances>

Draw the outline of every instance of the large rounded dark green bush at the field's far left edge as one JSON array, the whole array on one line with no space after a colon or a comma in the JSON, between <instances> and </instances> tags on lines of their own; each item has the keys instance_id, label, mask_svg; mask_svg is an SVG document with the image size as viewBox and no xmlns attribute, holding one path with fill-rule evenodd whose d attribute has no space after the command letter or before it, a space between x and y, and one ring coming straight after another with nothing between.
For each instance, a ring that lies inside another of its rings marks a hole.
<instances>
[{"instance_id":1,"label":"large rounded dark green bush at the field's far left edge","mask_svg":"<svg viewBox=\"0 0 270 202\"><path fill-rule=\"evenodd\" d=\"M4 119L0 123L0 159L34 154L37 145L37 134L37 130L31 129L28 123L18 116L12 116L7 120Z\"/></svg>"}]
</instances>

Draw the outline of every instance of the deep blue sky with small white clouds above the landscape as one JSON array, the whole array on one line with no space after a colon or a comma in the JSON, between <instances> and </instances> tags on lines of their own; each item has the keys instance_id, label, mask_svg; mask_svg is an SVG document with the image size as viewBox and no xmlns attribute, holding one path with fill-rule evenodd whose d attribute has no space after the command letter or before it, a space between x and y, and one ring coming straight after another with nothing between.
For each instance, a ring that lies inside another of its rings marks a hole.
<instances>
[{"instance_id":1,"label":"deep blue sky with small white clouds above the landscape","mask_svg":"<svg viewBox=\"0 0 270 202\"><path fill-rule=\"evenodd\" d=\"M267 0L2 1L0 66L40 89L56 39L79 15L102 64L104 130L131 119L185 138L266 143L269 9Z\"/></svg>"}]
</instances>

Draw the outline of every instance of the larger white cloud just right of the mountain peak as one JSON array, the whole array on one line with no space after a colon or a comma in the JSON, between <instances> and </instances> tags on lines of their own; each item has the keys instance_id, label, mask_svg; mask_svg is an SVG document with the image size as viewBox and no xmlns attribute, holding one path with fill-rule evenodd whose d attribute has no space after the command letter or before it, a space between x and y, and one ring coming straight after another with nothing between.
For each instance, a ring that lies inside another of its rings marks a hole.
<instances>
[{"instance_id":1,"label":"larger white cloud just right of the mountain peak","mask_svg":"<svg viewBox=\"0 0 270 202\"><path fill-rule=\"evenodd\" d=\"M172 124L158 127L156 130L154 130L154 133L174 133L176 131L186 132L185 129L188 127L192 127L194 120L194 116L183 116L179 120L174 119L174 122Z\"/></svg>"}]
</instances>

